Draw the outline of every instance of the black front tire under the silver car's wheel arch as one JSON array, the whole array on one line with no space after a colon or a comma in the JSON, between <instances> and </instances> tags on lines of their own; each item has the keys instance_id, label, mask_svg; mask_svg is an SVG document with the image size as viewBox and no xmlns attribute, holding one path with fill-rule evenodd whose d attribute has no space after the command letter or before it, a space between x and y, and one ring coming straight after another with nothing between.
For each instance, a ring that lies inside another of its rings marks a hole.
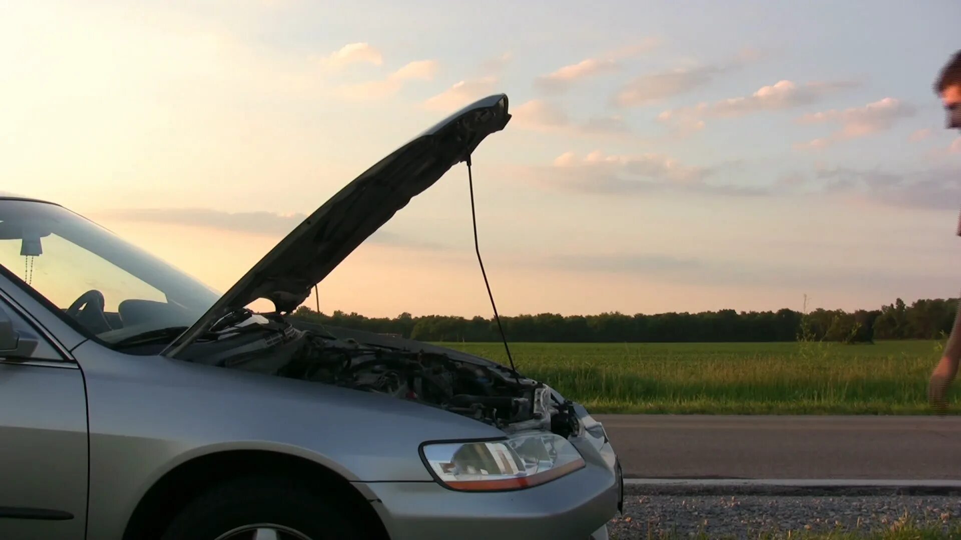
<instances>
[{"instance_id":1,"label":"black front tire under the silver car's wheel arch","mask_svg":"<svg viewBox=\"0 0 961 540\"><path fill-rule=\"evenodd\" d=\"M292 528L310 540L368 538L360 524L349 521L362 514L345 507L343 499L308 490L293 479L234 479L186 503L161 540L214 540L255 524Z\"/></svg>"}]
</instances>

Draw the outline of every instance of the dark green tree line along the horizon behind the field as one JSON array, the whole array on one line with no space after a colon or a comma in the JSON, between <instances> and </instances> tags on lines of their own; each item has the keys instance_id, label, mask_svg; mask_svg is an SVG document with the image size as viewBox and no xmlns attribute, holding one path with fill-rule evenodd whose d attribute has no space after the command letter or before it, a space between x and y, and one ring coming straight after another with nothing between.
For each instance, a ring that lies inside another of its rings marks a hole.
<instances>
[{"instance_id":1,"label":"dark green tree line along the horizon behind the field","mask_svg":"<svg viewBox=\"0 0 961 540\"><path fill-rule=\"evenodd\" d=\"M824 340L871 343L875 339L936 339L954 323L958 299L901 299L880 309L818 308L796 311L736 311L657 314L605 312L598 315L539 313L501 317L510 341L528 342L762 342ZM421 341L499 341L493 318L449 315L365 317L358 313L318 313L299 307L295 317L358 331L396 334Z\"/></svg>"}]
</instances>

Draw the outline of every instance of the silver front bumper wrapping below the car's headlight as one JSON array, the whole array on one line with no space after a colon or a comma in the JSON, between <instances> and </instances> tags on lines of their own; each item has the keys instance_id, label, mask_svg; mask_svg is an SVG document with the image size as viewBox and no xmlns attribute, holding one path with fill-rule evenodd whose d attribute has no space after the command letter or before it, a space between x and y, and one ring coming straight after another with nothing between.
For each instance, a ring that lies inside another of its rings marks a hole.
<instances>
[{"instance_id":1,"label":"silver front bumper wrapping below the car's headlight","mask_svg":"<svg viewBox=\"0 0 961 540\"><path fill-rule=\"evenodd\" d=\"M584 468L524 490L468 493L432 481L355 486L377 510L391 540L603 539L624 494L617 455L605 439L589 432L572 437Z\"/></svg>"}]
</instances>

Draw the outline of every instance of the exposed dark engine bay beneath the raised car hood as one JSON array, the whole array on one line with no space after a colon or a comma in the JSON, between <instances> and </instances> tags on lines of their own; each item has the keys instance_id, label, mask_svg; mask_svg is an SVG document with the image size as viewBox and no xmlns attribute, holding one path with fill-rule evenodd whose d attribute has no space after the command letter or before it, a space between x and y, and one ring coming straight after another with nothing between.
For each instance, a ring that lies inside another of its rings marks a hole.
<instances>
[{"instance_id":1,"label":"exposed dark engine bay beneath the raised car hood","mask_svg":"<svg viewBox=\"0 0 961 540\"><path fill-rule=\"evenodd\" d=\"M280 328L278 328L280 327ZM193 361L298 380L333 384L430 405L506 432L577 431L573 405L558 403L550 386L505 366L480 365L435 352L411 352L338 339L278 325L252 341L217 340L232 346ZM226 336L224 336L226 337Z\"/></svg>"}]
</instances>

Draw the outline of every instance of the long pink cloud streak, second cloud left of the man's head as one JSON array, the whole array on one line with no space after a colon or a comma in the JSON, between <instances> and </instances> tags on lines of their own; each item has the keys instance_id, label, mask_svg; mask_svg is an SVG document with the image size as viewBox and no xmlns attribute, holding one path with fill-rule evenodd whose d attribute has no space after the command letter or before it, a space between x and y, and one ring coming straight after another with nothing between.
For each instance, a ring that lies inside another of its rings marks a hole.
<instances>
[{"instance_id":1,"label":"long pink cloud streak, second cloud left of the man's head","mask_svg":"<svg viewBox=\"0 0 961 540\"><path fill-rule=\"evenodd\" d=\"M685 131L703 128L704 118L732 118L764 110L785 110L817 103L826 96L846 88L858 86L852 82L806 83L798 85L793 81L778 81L774 85L762 86L750 96L734 97L716 101L702 102L693 107L664 110L657 120L675 125Z\"/></svg>"}]
</instances>

